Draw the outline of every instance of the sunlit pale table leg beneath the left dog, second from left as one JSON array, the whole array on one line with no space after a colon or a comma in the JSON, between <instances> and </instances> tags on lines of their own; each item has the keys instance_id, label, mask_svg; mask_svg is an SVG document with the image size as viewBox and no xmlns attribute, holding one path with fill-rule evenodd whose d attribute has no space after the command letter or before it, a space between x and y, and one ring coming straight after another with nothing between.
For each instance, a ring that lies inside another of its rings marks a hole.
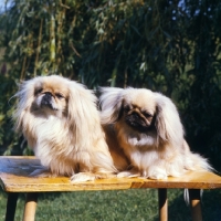
<instances>
[{"instance_id":1,"label":"sunlit pale table leg beneath the left dog, second from left","mask_svg":"<svg viewBox=\"0 0 221 221\"><path fill-rule=\"evenodd\" d=\"M23 221L34 221L38 192L28 192L23 213Z\"/></svg>"}]
</instances>

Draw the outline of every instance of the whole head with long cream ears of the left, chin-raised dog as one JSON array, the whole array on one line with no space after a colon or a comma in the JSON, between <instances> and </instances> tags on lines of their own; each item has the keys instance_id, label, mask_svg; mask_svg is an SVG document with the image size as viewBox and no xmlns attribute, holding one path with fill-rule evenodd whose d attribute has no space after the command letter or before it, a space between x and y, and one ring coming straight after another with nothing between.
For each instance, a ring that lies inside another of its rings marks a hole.
<instances>
[{"instance_id":1,"label":"whole head with long cream ears of the left, chin-raised dog","mask_svg":"<svg viewBox=\"0 0 221 221\"><path fill-rule=\"evenodd\" d=\"M53 128L57 134L70 133L70 140L82 145L103 136L96 96L77 82L59 75L36 76L23 82L14 96L18 97L14 129L25 137L36 139L38 133L43 136ZM90 139L85 139L85 135Z\"/></svg>"}]
</instances>

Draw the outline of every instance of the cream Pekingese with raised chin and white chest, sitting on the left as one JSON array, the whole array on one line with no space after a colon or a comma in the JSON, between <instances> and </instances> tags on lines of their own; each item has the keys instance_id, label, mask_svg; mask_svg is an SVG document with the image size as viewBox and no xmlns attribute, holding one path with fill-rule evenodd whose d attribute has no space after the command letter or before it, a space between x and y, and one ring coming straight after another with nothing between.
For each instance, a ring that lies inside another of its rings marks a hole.
<instances>
[{"instance_id":1,"label":"cream Pekingese with raised chin and white chest, sitting on the left","mask_svg":"<svg viewBox=\"0 0 221 221\"><path fill-rule=\"evenodd\" d=\"M59 75L38 76L15 96L15 129L50 175L76 182L116 172L90 90Z\"/></svg>"}]
</instances>

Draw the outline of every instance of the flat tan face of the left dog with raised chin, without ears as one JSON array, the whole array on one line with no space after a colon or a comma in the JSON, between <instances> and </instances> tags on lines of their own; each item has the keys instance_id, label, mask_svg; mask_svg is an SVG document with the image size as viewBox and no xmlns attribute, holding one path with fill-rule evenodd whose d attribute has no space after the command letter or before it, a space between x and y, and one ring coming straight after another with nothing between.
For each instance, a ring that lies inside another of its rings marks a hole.
<instances>
[{"instance_id":1,"label":"flat tan face of the left dog with raised chin, without ears","mask_svg":"<svg viewBox=\"0 0 221 221\"><path fill-rule=\"evenodd\" d=\"M67 85L56 77L44 78L34 85L33 112L65 115L67 110L69 91Z\"/></svg>"}]
</instances>

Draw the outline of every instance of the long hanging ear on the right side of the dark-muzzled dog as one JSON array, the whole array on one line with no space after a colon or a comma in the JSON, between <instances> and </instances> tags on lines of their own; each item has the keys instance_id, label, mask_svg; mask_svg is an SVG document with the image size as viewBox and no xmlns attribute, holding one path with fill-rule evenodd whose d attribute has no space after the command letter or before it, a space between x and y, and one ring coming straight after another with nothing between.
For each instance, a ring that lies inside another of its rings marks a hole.
<instances>
[{"instance_id":1,"label":"long hanging ear on the right side of the dark-muzzled dog","mask_svg":"<svg viewBox=\"0 0 221 221\"><path fill-rule=\"evenodd\" d=\"M175 104L168 97L156 93L157 110L155 126L161 140L180 145L183 128Z\"/></svg>"}]
</instances>

